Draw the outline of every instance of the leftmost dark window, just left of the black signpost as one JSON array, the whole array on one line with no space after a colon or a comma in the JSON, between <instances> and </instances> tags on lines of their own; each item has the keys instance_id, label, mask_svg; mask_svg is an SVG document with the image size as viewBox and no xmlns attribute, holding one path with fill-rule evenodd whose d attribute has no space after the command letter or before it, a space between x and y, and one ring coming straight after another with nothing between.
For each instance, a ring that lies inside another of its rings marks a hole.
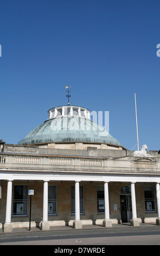
<instances>
[{"instance_id":1,"label":"leftmost dark window, just left of the black signpost","mask_svg":"<svg viewBox=\"0 0 160 256\"><path fill-rule=\"evenodd\" d=\"M14 200L12 216L27 216L28 210L28 186L14 186Z\"/></svg>"}]
</instances>

